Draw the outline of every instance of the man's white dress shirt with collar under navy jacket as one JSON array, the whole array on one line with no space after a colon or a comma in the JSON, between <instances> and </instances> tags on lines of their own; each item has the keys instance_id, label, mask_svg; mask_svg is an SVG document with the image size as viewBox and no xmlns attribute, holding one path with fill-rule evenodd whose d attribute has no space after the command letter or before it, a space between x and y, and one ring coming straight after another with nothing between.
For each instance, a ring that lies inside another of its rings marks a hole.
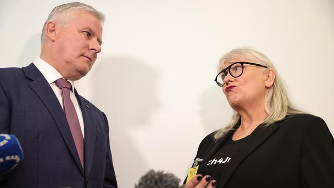
<instances>
[{"instance_id":1,"label":"man's white dress shirt with collar under navy jacket","mask_svg":"<svg viewBox=\"0 0 334 188\"><path fill-rule=\"evenodd\" d=\"M56 80L63 78L62 75L55 69L53 68L50 64L42 60L41 58L37 57L33 64L40 70L40 72L43 74L45 77L46 81L50 84L55 96L57 97L60 105L63 107L63 98L62 98L62 91L61 89L54 83ZM80 128L82 131L82 135L85 138L85 128L84 128L84 123L83 123L83 117L82 117L82 111L79 106L78 100L76 98L76 95L74 93L74 81L68 80L71 83L71 89L70 89L70 98L73 102L74 107L76 108L79 123L80 123Z\"/></svg>"}]
</instances>

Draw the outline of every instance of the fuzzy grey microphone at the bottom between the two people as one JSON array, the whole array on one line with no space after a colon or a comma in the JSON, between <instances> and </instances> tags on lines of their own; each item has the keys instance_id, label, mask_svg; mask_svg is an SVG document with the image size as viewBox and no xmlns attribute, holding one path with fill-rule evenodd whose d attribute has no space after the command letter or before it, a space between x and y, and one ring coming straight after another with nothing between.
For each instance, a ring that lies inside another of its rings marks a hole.
<instances>
[{"instance_id":1,"label":"fuzzy grey microphone at the bottom between the two people","mask_svg":"<svg viewBox=\"0 0 334 188\"><path fill-rule=\"evenodd\" d=\"M135 188L179 188L179 183L180 179L172 173L150 170L139 179Z\"/></svg>"}]
</instances>

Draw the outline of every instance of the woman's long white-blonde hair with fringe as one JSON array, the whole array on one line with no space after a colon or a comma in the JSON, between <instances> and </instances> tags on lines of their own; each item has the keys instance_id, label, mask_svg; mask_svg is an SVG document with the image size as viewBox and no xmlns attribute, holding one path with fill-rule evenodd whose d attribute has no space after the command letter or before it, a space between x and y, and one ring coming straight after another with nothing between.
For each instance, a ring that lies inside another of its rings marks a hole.
<instances>
[{"instance_id":1,"label":"woman's long white-blonde hair with fringe","mask_svg":"<svg viewBox=\"0 0 334 188\"><path fill-rule=\"evenodd\" d=\"M218 62L218 72L224 69L225 62L233 63L236 59L258 63L266 66L267 68L272 68L276 72L274 83L269 88L265 99L265 109L268 116L262 121L261 124L270 126L274 122L283 120L287 115L303 113L302 111L295 109L291 104L287 95L286 87L269 58L255 49L242 47L233 49L232 51L226 53ZM240 115L235 110L233 110L230 123L226 127L217 130L214 134L214 139L218 140L219 138L226 135L228 131L233 129L238 121L240 121Z\"/></svg>"}]
</instances>

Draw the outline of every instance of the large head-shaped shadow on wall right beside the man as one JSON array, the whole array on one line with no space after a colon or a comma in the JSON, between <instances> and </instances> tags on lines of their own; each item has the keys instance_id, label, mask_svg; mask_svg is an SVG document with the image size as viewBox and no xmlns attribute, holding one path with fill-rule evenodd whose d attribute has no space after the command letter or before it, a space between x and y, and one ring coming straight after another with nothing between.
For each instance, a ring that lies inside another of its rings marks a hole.
<instances>
[{"instance_id":1,"label":"large head-shaped shadow on wall right beside the man","mask_svg":"<svg viewBox=\"0 0 334 188\"><path fill-rule=\"evenodd\" d=\"M96 93L92 101L108 117L119 187L134 187L150 166L139 153L132 135L147 124L150 114L158 108L155 94L158 74L129 57L103 57L99 62L92 76Z\"/></svg>"}]
</instances>

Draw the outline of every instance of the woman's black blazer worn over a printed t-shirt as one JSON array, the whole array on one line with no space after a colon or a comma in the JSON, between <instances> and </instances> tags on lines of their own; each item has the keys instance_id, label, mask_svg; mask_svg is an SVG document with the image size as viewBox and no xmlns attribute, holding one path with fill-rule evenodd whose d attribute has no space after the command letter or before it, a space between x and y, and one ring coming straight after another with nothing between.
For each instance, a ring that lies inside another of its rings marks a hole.
<instances>
[{"instance_id":1,"label":"woman's black blazer worn over a printed t-shirt","mask_svg":"<svg viewBox=\"0 0 334 188\"><path fill-rule=\"evenodd\" d=\"M211 133L202 140L197 174L234 130L217 142ZM195 159L196 159L195 158ZM299 114L267 128L257 127L230 161L229 173L216 187L334 187L334 139L319 117ZM204 174L202 174L204 175Z\"/></svg>"}]
</instances>

